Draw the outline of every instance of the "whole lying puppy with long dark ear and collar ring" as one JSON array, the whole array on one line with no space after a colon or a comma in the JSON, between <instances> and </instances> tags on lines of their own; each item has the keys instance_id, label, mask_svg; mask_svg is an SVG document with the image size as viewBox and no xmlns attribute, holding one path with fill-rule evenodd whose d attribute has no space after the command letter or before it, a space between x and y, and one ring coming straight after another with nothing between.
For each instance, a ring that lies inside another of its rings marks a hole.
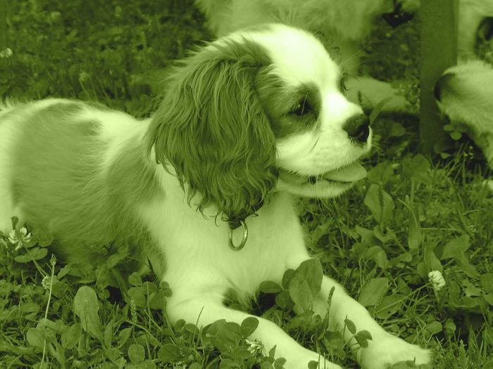
<instances>
[{"instance_id":1,"label":"whole lying puppy with long dark ear and collar ring","mask_svg":"<svg viewBox=\"0 0 493 369\"><path fill-rule=\"evenodd\" d=\"M71 261L113 241L151 247L173 290L172 321L241 323L249 315L223 304L228 292L251 297L310 257L295 197L337 196L365 176L358 159L370 148L368 119L340 79L311 34L273 24L183 60L145 121L63 99L9 106L0 115L0 227L8 232L15 215L46 228ZM316 313L327 313L332 287L332 329L349 318L373 336L366 349L353 345L363 368L429 361L327 276ZM277 345L286 368L319 359L339 368L258 321L252 337Z\"/></svg>"}]
</instances>

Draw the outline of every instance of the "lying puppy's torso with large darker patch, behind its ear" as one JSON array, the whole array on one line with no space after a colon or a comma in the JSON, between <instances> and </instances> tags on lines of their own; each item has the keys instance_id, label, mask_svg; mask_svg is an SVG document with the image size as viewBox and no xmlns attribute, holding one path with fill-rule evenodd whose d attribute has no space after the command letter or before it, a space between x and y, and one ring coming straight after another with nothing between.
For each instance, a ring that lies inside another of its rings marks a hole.
<instances>
[{"instance_id":1,"label":"lying puppy's torso with large darker patch, behind its ear","mask_svg":"<svg viewBox=\"0 0 493 369\"><path fill-rule=\"evenodd\" d=\"M155 183L138 139L146 127L123 112L62 99L4 110L1 231L18 216L21 225L56 234L70 260L92 257L89 246L137 245L146 232L132 202L151 196ZM121 176L129 170L139 174L131 182Z\"/></svg>"}]
</instances>

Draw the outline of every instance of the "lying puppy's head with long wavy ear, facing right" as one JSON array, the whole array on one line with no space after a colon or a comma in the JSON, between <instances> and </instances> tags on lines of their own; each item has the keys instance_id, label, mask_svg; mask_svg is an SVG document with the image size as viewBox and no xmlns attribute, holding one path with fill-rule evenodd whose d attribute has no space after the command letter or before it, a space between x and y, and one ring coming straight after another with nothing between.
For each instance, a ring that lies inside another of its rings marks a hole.
<instances>
[{"instance_id":1,"label":"lying puppy's head with long wavy ear, facing right","mask_svg":"<svg viewBox=\"0 0 493 369\"><path fill-rule=\"evenodd\" d=\"M342 93L342 73L311 34L266 25L183 60L149 127L189 199L231 218L275 190L332 197L365 176L368 118Z\"/></svg>"}]
</instances>

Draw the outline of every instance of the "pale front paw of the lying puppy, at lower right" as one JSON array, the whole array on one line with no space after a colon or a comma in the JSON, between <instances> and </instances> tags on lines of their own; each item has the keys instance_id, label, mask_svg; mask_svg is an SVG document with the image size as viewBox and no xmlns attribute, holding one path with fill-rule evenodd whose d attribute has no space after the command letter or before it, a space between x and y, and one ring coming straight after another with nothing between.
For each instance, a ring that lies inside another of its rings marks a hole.
<instances>
[{"instance_id":1,"label":"pale front paw of the lying puppy, at lower right","mask_svg":"<svg viewBox=\"0 0 493 369\"><path fill-rule=\"evenodd\" d=\"M358 352L358 362L363 369L387 369L403 361L413 361L420 365L429 363L431 359L430 350L390 334L375 337L368 343L366 349Z\"/></svg>"}]
</instances>

